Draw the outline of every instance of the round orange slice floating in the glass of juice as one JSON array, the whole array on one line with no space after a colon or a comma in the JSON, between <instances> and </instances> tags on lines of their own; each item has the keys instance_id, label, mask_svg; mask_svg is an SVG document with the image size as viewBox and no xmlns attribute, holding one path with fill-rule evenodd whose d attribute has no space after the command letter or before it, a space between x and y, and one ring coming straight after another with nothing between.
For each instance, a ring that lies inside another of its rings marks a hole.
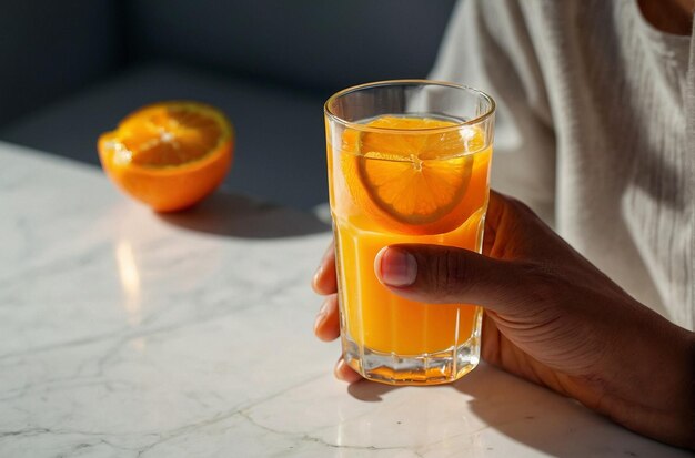
<instances>
[{"instance_id":1,"label":"round orange slice floating in the glass of juice","mask_svg":"<svg viewBox=\"0 0 695 458\"><path fill-rule=\"evenodd\" d=\"M463 199L475 152L474 128L451 121L381 116L343 135L343 173L362 211L386 230L406 234L453 231L470 216Z\"/></svg>"}]
</instances>

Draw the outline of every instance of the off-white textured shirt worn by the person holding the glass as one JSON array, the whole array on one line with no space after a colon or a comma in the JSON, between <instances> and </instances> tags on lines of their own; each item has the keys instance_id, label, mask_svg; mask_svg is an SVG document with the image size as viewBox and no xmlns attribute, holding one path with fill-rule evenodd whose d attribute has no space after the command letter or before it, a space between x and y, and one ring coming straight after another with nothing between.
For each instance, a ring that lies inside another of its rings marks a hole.
<instances>
[{"instance_id":1,"label":"off-white textured shirt worn by the person holding the glass","mask_svg":"<svg viewBox=\"0 0 695 458\"><path fill-rule=\"evenodd\" d=\"M637 0L461 0L431 74L497 101L493 187L688 329L694 42Z\"/></svg>"}]
</instances>

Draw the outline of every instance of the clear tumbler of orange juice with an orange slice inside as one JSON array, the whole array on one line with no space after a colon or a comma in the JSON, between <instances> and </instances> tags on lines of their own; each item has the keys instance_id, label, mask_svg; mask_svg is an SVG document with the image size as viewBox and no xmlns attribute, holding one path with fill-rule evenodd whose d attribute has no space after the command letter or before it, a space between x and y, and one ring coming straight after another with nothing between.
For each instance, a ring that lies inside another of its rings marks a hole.
<instances>
[{"instance_id":1,"label":"clear tumbler of orange juice with an orange slice inside","mask_svg":"<svg viewBox=\"0 0 695 458\"><path fill-rule=\"evenodd\" d=\"M363 84L325 103L343 357L367 379L443 384L477 365L481 307L400 297L374 258L397 243L481 252L494 111L481 91L426 80Z\"/></svg>"}]
</instances>

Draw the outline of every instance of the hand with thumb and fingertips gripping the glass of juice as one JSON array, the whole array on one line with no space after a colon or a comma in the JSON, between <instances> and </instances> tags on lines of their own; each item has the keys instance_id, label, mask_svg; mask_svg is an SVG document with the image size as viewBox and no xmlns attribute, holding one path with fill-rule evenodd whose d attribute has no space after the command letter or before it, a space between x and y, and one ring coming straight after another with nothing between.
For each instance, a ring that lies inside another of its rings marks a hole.
<instances>
[{"instance_id":1,"label":"hand with thumb and fingertips gripping the glass of juice","mask_svg":"<svg viewBox=\"0 0 695 458\"><path fill-rule=\"evenodd\" d=\"M695 334L639 304L522 203L491 193L484 255L402 244L375 273L425 303L485 307L482 357L646 436L695 448ZM333 246L313 279L314 332L339 336ZM342 359L335 375L360 378Z\"/></svg>"}]
</instances>

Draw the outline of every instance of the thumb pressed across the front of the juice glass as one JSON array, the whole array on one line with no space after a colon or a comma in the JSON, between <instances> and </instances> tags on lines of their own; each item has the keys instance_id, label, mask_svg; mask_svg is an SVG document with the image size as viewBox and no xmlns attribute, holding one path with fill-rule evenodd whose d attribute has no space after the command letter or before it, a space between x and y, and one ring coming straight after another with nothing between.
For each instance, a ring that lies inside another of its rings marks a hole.
<instances>
[{"instance_id":1,"label":"thumb pressed across the front of the juice glass","mask_svg":"<svg viewBox=\"0 0 695 458\"><path fill-rule=\"evenodd\" d=\"M520 266L452 246L386 246L374 271L391 291L419 302L480 304L504 313L525 297Z\"/></svg>"}]
</instances>

